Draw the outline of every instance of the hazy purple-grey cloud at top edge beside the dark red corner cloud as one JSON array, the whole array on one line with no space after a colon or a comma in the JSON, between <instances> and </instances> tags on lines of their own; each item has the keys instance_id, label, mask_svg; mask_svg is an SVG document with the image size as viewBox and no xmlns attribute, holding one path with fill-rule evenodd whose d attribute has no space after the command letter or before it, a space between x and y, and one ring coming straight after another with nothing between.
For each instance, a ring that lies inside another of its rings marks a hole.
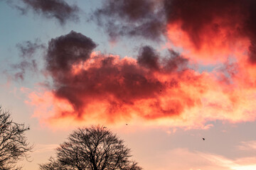
<instances>
[{"instance_id":1,"label":"hazy purple-grey cloud at top edge beside the dark red corner cloud","mask_svg":"<svg viewBox=\"0 0 256 170\"><path fill-rule=\"evenodd\" d=\"M105 28L111 40L123 35L160 40L166 27L159 5L154 0L107 0L95 10L92 19Z\"/></svg>"}]
</instances>

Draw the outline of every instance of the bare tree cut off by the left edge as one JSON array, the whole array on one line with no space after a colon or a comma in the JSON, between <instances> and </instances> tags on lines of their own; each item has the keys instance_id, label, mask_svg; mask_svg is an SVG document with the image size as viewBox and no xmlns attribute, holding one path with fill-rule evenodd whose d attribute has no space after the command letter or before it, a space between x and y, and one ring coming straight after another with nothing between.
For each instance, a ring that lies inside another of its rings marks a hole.
<instances>
[{"instance_id":1,"label":"bare tree cut off by the left edge","mask_svg":"<svg viewBox=\"0 0 256 170\"><path fill-rule=\"evenodd\" d=\"M0 169L21 169L15 168L16 163L28 159L32 146L25 136L27 130L24 124L13 122L11 114L0 106Z\"/></svg>"}]
</instances>

